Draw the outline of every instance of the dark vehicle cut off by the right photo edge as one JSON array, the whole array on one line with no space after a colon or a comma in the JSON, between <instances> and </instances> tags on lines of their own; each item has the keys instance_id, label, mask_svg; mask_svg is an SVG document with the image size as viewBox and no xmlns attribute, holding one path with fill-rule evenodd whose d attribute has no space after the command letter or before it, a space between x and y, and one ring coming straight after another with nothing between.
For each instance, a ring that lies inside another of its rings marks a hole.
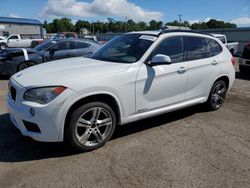
<instances>
[{"instance_id":1,"label":"dark vehicle cut off by the right photo edge","mask_svg":"<svg viewBox=\"0 0 250 188\"><path fill-rule=\"evenodd\" d=\"M239 59L239 69L241 73L249 73L250 75L250 43L246 44Z\"/></svg>"}]
</instances>

